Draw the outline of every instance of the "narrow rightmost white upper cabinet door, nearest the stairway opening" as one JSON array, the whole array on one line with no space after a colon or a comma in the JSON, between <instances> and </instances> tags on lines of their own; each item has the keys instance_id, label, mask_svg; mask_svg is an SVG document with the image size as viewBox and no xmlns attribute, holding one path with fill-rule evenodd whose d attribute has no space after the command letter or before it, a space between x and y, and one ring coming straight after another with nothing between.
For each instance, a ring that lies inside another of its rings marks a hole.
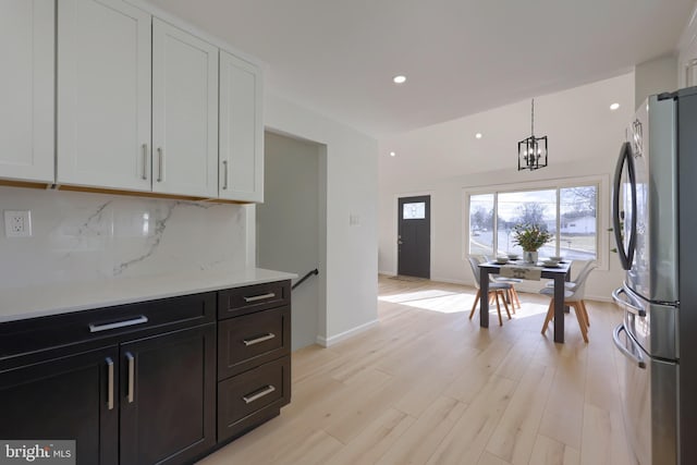
<instances>
[{"instance_id":1,"label":"narrow rightmost white upper cabinet door, nearest the stairway opening","mask_svg":"<svg viewBox=\"0 0 697 465\"><path fill-rule=\"evenodd\" d=\"M261 74L220 51L220 198L264 201Z\"/></svg>"}]
</instances>

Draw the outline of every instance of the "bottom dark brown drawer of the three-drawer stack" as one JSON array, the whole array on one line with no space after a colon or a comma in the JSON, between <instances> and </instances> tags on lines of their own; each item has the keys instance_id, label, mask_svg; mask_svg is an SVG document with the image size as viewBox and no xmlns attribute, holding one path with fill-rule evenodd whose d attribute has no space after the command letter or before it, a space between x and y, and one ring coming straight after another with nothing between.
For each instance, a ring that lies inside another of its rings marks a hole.
<instances>
[{"instance_id":1,"label":"bottom dark brown drawer of the three-drawer stack","mask_svg":"<svg viewBox=\"0 0 697 465\"><path fill-rule=\"evenodd\" d=\"M291 400L290 355L218 383L218 441L278 415Z\"/></svg>"}]
</instances>

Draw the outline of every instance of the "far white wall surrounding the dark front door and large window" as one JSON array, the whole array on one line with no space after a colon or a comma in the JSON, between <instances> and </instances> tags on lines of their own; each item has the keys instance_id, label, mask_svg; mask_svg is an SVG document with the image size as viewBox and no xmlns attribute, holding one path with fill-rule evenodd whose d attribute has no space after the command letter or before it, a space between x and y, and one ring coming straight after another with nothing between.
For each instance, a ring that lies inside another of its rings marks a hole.
<instances>
[{"instance_id":1,"label":"far white wall surrounding the dark front door and large window","mask_svg":"<svg viewBox=\"0 0 697 465\"><path fill-rule=\"evenodd\" d=\"M620 102L619 110L609 106ZM379 270L394 274L396 267L396 198L431 195L431 278L474 284L464 261L463 193L485 186L517 188L546 180L600 178L610 183L634 114L634 74L625 74L575 89L535 99L535 133L549 136L549 167L517 171L516 143L529 136L530 102L517 102L484 113L380 140ZM481 132L481 139L475 133ZM390 157L390 150L398 156ZM594 272L587 293L608 299L623 272L612 247L610 192L599 199L604 270Z\"/></svg>"}]
</instances>

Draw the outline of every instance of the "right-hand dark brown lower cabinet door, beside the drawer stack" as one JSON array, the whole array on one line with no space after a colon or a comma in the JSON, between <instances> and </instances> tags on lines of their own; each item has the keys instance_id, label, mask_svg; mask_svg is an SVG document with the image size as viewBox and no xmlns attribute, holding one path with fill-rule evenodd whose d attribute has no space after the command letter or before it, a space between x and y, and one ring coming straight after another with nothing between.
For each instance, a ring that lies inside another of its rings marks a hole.
<instances>
[{"instance_id":1,"label":"right-hand dark brown lower cabinet door, beside the drawer stack","mask_svg":"<svg viewBox=\"0 0 697 465\"><path fill-rule=\"evenodd\" d=\"M216 326L121 344L121 464L181 464L216 444Z\"/></svg>"}]
</instances>

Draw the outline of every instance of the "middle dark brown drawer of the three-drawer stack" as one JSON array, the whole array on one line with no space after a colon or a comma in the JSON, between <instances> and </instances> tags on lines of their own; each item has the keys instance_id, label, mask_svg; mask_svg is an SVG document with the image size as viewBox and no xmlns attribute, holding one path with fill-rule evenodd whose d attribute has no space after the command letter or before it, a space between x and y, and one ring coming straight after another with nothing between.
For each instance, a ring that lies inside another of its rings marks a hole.
<instances>
[{"instance_id":1,"label":"middle dark brown drawer of the three-drawer stack","mask_svg":"<svg viewBox=\"0 0 697 465\"><path fill-rule=\"evenodd\" d=\"M289 306L218 322L218 379L291 353Z\"/></svg>"}]
</instances>

